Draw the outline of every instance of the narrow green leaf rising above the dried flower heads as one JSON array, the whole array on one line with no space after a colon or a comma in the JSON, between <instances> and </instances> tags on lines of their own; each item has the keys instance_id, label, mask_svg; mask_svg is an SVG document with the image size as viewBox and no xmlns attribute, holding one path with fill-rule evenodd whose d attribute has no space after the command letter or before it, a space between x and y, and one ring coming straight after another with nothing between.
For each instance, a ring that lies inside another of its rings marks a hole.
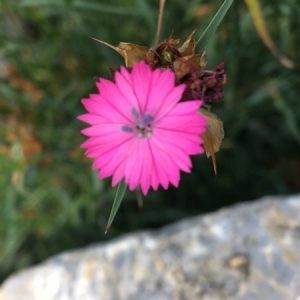
<instances>
[{"instance_id":1,"label":"narrow green leaf rising above the dried flower heads","mask_svg":"<svg viewBox=\"0 0 300 300\"><path fill-rule=\"evenodd\" d=\"M202 35L200 36L199 40L197 41L198 47L203 49L213 34L216 32L217 28L219 27L221 21L225 17L229 7L231 6L233 0L225 0L222 6L217 11L214 18L211 20L209 25L206 27Z\"/></svg>"}]
</instances>

